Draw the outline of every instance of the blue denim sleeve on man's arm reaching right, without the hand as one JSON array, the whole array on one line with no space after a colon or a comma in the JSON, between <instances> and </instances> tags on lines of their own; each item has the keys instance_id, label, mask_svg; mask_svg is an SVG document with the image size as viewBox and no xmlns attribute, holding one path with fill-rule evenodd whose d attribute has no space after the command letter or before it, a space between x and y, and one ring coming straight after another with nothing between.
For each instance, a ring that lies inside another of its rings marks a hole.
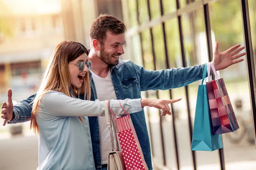
<instances>
[{"instance_id":1,"label":"blue denim sleeve on man's arm reaching right, without the hand","mask_svg":"<svg viewBox=\"0 0 256 170\"><path fill-rule=\"evenodd\" d=\"M146 70L136 64L134 64L134 67L140 79L141 91L148 91L179 88L198 81L203 77L204 65L158 71Z\"/></svg>"}]
</instances>

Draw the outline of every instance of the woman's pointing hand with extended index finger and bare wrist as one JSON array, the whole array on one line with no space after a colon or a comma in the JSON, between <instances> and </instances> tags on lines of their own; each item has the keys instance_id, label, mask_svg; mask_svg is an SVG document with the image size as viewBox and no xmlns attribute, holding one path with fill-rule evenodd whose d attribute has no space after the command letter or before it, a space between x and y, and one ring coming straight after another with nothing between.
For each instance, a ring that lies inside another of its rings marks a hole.
<instances>
[{"instance_id":1,"label":"woman's pointing hand with extended index finger and bare wrist","mask_svg":"<svg viewBox=\"0 0 256 170\"><path fill-rule=\"evenodd\" d=\"M161 116L165 116L166 114L171 115L170 112L171 108L169 104L175 103L180 101L180 99L171 99L171 100L163 100L163 99L141 99L141 106L144 108L144 106L154 107L158 109L162 109L163 113Z\"/></svg>"}]
</instances>

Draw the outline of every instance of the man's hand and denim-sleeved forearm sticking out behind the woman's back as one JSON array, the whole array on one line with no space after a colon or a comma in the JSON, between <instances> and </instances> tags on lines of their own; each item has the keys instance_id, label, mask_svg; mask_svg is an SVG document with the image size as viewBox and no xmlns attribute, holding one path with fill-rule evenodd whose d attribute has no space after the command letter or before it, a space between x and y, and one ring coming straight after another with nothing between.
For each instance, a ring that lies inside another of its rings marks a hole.
<instances>
[{"instance_id":1,"label":"man's hand and denim-sleeved forearm sticking out behind the woman's back","mask_svg":"<svg viewBox=\"0 0 256 170\"><path fill-rule=\"evenodd\" d=\"M7 122L10 124L14 124L29 121L32 112L31 102L34 98L35 94L25 100L18 102L17 105L13 106L12 90L9 89L7 102L3 102L2 106L1 118L3 118L3 125L6 125Z\"/></svg>"}]
</instances>

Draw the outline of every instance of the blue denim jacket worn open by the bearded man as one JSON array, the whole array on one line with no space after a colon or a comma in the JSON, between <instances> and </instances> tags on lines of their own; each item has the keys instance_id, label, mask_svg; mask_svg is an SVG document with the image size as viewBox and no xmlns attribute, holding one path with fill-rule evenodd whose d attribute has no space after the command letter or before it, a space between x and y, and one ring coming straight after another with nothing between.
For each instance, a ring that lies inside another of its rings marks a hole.
<instances>
[{"instance_id":1,"label":"blue denim jacket worn open by the bearded man","mask_svg":"<svg viewBox=\"0 0 256 170\"><path fill-rule=\"evenodd\" d=\"M141 91L167 90L179 88L202 79L204 64L188 68L172 68L160 71L145 70L130 60L119 60L119 64L111 68L111 79L117 99L141 98ZM90 75L91 76L91 75ZM108 90L108 89L106 89ZM26 122L30 120L32 105L28 105L35 94L20 101L14 106L15 118L9 123ZM84 95L79 96L84 99ZM97 99L96 89L91 79L91 98ZM144 111L131 114L131 119L137 133L140 146L149 170L152 169L151 150ZM93 157L96 169L101 170L100 139L98 118L89 117L90 133L93 145Z\"/></svg>"}]
</instances>

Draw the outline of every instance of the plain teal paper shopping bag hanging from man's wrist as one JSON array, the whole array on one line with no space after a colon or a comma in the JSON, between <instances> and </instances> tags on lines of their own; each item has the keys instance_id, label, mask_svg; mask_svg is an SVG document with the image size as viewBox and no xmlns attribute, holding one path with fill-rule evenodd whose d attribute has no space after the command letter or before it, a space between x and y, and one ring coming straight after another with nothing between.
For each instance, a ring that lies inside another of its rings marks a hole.
<instances>
[{"instance_id":1,"label":"plain teal paper shopping bag hanging from man's wrist","mask_svg":"<svg viewBox=\"0 0 256 170\"><path fill-rule=\"evenodd\" d=\"M204 84L206 74L207 65L204 67L202 84L198 87L191 150L213 151L223 147L221 135L212 135L207 87Z\"/></svg>"}]
</instances>

